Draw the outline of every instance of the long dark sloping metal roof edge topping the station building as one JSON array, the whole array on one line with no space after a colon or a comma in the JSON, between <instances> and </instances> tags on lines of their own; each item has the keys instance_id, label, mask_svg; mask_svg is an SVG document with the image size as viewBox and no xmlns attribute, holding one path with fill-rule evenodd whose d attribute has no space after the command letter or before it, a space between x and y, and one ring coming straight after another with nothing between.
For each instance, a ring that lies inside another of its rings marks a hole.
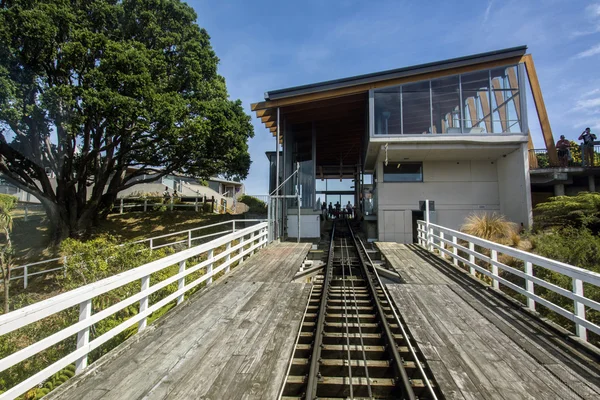
<instances>
[{"instance_id":1,"label":"long dark sloping metal roof edge topping the station building","mask_svg":"<svg viewBox=\"0 0 600 400\"><path fill-rule=\"evenodd\" d=\"M449 60L413 65L411 67L403 67L382 72L375 72L371 74L356 75L348 78L335 79L331 81L317 82L308 85L271 90L265 93L265 100L277 100L285 97L323 92L327 90L355 86L364 83L372 83L387 79L402 78L411 75L419 75L427 72L443 71L445 69L480 64L483 62L502 60L511 57L518 57L525 55L526 51L527 46L511 47L502 50L490 51L487 53L479 53L465 57L451 58Z\"/></svg>"}]
</instances>

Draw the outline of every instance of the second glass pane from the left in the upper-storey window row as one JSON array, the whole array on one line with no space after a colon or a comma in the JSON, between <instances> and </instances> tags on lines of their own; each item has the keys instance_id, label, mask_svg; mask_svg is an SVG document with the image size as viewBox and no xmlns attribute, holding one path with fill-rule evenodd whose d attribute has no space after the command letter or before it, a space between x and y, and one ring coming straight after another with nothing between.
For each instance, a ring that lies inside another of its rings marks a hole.
<instances>
[{"instance_id":1,"label":"second glass pane from the left in the upper-storey window row","mask_svg":"<svg viewBox=\"0 0 600 400\"><path fill-rule=\"evenodd\" d=\"M405 134L431 132L429 81L402 86L402 118Z\"/></svg>"}]
</instances>

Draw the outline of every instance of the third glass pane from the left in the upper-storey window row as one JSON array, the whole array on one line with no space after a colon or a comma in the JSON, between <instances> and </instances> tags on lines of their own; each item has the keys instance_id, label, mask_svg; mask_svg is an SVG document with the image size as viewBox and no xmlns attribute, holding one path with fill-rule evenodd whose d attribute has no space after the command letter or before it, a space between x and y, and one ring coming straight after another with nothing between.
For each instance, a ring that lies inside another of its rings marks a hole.
<instances>
[{"instance_id":1,"label":"third glass pane from the left in the upper-storey window row","mask_svg":"<svg viewBox=\"0 0 600 400\"><path fill-rule=\"evenodd\" d=\"M431 81L433 133L461 133L458 75Z\"/></svg>"}]
</instances>

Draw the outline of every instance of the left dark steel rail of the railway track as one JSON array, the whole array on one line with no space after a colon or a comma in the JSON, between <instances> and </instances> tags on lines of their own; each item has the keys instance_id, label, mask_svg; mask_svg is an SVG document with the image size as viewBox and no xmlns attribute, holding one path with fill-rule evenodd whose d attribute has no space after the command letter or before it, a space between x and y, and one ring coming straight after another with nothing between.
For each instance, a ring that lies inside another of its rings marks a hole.
<instances>
[{"instance_id":1,"label":"left dark steel rail of the railway track","mask_svg":"<svg viewBox=\"0 0 600 400\"><path fill-rule=\"evenodd\" d=\"M331 228L331 242L329 243L329 254L327 255L327 265L325 266L325 278L321 289L321 306L319 307L319 317L315 329L315 340L313 342L313 351L310 359L310 370L308 372L308 382L306 384L306 400L317 398L317 384L319 383L319 365L321 363L321 349L323 346L323 329L325 327L325 315L327 314L327 297L329 296L329 283L333 274L333 248L335 238L335 221Z\"/></svg>"}]
</instances>

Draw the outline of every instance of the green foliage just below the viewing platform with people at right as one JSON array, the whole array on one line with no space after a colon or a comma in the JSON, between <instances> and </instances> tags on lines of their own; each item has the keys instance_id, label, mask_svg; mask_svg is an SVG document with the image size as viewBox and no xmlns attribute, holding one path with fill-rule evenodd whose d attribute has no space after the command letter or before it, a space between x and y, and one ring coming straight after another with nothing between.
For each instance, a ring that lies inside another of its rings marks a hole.
<instances>
[{"instance_id":1,"label":"green foliage just below the viewing platform with people at right","mask_svg":"<svg viewBox=\"0 0 600 400\"><path fill-rule=\"evenodd\" d=\"M534 227L587 228L600 232L600 193L581 192L577 196L550 197L535 208Z\"/></svg>"}]
</instances>

